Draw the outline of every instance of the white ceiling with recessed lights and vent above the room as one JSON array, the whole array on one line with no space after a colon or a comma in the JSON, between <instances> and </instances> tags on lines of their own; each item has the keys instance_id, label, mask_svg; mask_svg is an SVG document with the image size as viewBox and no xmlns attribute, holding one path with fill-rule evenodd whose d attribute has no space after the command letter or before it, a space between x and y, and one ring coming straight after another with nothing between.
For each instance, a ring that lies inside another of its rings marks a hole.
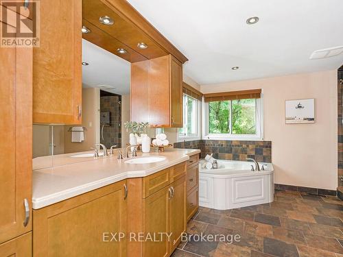
<instances>
[{"instance_id":1,"label":"white ceiling with recessed lights and vent above the room","mask_svg":"<svg viewBox=\"0 0 343 257\"><path fill-rule=\"evenodd\" d=\"M199 84L338 69L343 55L309 60L343 45L342 0L128 0L189 58ZM246 19L259 16L259 23ZM237 71L231 67L239 66Z\"/></svg>"}]
</instances>

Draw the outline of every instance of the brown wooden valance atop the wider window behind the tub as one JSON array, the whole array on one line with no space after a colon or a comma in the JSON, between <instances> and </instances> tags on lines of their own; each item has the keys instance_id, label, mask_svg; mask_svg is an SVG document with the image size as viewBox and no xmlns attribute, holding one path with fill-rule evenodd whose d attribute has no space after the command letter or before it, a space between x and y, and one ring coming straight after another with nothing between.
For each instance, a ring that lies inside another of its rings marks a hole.
<instances>
[{"instance_id":1,"label":"brown wooden valance atop the wider window behind the tub","mask_svg":"<svg viewBox=\"0 0 343 257\"><path fill-rule=\"evenodd\" d=\"M261 89L204 94L205 102L261 98Z\"/></svg>"}]
</instances>

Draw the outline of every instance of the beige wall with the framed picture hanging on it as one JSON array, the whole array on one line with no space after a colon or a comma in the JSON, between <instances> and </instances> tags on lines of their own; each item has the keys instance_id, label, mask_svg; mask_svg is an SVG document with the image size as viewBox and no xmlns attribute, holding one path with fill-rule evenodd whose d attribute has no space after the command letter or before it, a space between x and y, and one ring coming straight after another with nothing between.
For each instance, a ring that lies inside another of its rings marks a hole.
<instances>
[{"instance_id":1,"label":"beige wall with the framed picture hanging on it","mask_svg":"<svg viewBox=\"0 0 343 257\"><path fill-rule=\"evenodd\" d=\"M337 187L337 71L202 85L202 93L263 89L264 139L272 141L275 183ZM285 100L314 98L316 123L285 124Z\"/></svg>"}]
</instances>

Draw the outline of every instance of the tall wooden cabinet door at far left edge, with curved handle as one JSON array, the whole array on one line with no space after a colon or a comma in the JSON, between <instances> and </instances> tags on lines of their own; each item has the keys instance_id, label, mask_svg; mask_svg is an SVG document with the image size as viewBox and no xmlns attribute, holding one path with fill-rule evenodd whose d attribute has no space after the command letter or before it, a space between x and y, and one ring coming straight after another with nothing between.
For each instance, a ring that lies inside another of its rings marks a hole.
<instances>
[{"instance_id":1,"label":"tall wooden cabinet door at far left edge, with curved handle","mask_svg":"<svg viewBox=\"0 0 343 257\"><path fill-rule=\"evenodd\" d=\"M14 17L12 21L16 21L14 12L8 11L8 14ZM14 26L8 24L13 33L16 32ZM31 219L26 225L23 223L24 199L27 199L29 208L32 199L32 49L0 47L0 77L2 243L32 230Z\"/></svg>"}]
</instances>

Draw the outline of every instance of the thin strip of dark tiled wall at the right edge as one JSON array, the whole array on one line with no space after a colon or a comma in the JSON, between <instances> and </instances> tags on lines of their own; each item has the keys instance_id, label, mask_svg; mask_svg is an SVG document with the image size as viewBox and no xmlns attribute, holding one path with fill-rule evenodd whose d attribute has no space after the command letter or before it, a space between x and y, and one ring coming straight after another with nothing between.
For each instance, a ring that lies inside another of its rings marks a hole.
<instances>
[{"instance_id":1,"label":"thin strip of dark tiled wall at the right edge","mask_svg":"<svg viewBox=\"0 0 343 257\"><path fill-rule=\"evenodd\" d=\"M338 186L343 186L340 176L343 176L343 66L338 70Z\"/></svg>"}]
</instances>

